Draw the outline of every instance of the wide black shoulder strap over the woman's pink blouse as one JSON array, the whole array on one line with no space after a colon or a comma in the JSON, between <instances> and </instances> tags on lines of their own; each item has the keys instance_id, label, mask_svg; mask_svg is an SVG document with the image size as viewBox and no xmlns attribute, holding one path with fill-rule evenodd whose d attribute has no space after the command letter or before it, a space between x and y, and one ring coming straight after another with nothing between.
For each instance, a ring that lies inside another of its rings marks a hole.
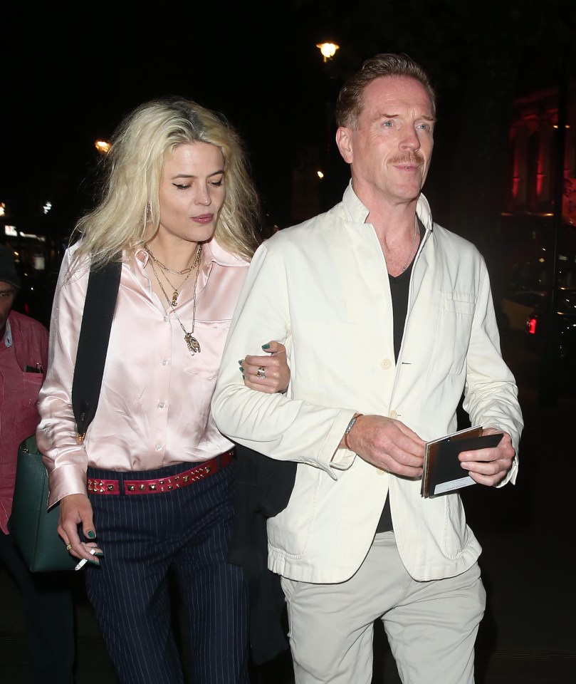
<instances>
[{"instance_id":1,"label":"wide black shoulder strap over the woman's pink blouse","mask_svg":"<svg viewBox=\"0 0 576 684\"><path fill-rule=\"evenodd\" d=\"M72 383L72 408L80 442L98 407L121 271L120 260L110 261L102 269L90 269L88 276Z\"/></svg>"}]
</instances>

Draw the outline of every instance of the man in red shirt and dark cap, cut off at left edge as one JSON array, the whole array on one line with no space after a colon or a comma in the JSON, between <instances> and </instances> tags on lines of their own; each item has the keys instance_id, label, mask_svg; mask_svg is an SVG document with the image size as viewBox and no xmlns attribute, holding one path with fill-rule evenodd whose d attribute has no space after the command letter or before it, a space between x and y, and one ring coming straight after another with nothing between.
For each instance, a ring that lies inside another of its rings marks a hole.
<instances>
[{"instance_id":1,"label":"man in red shirt and dark cap, cut off at left edge","mask_svg":"<svg viewBox=\"0 0 576 684\"><path fill-rule=\"evenodd\" d=\"M20 289L14 254L0 244L0 561L19 584L26 616L31 681L73 681L73 607L60 574L32 574L9 534L20 443L38 425L36 403L48 358L48 331L11 311Z\"/></svg>"}]
</instances>

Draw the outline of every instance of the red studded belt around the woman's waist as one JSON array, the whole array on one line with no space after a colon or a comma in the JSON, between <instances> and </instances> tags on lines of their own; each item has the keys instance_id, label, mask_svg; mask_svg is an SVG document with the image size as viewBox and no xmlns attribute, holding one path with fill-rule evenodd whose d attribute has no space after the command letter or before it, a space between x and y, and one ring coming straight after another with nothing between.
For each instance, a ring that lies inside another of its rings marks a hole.
<instances>
[{"instance_id":1,"label":"red studded belt around the woman's waist","mask_svg":"<svg viewBox=\"0 0 576 684\"><path fill-rule=\"evenodd\" d=\"M209 475L222 470L234 459L234 449L224 452L209 461L203 461L197 466L178 472L169 477L159 477L157 480L122 480L123 493L158 494L159 492L174 492L176 489L188 487L194 482L204 480ZM88 494L120 494L120 480L100 480L88 478Z\"/></svg>"}]
</instances>

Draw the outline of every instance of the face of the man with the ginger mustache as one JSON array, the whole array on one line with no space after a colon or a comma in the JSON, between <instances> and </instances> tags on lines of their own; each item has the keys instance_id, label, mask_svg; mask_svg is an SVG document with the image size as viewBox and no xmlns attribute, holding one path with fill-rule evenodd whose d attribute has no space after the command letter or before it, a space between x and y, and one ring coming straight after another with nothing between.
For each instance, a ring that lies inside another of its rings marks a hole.
<instances>
[{"instance_id":1,"label":"face of the man with the ginger mustache","mask_svg":"<svg viewBox=\"0 0 576 684\"><path fill-rule=\"evenodd\" d=\"M364 90L357 128L339 128L340 153L352 185L370 207L417 199L434 145L434 113L426 88L414 78L382 76Z\"/></svg>"}]
</instances>

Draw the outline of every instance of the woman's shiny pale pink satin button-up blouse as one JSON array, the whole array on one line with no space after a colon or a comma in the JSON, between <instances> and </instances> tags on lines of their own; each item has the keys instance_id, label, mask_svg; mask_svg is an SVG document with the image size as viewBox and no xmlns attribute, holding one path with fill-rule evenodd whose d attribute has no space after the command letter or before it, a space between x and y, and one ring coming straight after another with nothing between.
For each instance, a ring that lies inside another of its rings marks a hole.
<instances>
[{"instance_id":1,"label":"woman's shiny pale pink satin button-up blouse","mask_svg":"<svg viewBox=\"0 0 576 684\"><path fill-rule=\"evenodd\" d=\"M174 311L152 292L147 252L122 264L98 410L79 445L70 391L88 271L68 277L74 251L66 252L56 286L48 372L38 398L36 437L49 472L48 506L86 492L88 465L151 470L207 460L231 447L214 425L210 400L248 262L214 240L204 244L194 326L201 352L194 356ZM187 331L193 291L191 279L176 309Z\"/></svg>"}]
</instances>

